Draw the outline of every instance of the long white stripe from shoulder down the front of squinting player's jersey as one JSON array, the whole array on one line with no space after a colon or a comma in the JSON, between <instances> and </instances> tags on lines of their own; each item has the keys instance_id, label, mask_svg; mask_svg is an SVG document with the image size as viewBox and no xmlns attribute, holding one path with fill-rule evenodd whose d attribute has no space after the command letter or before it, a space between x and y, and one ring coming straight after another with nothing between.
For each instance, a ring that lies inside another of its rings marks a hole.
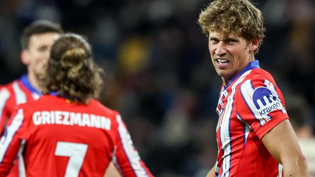
<instances>
[{"instance_id":1,"label":"long white stripe from shoulder down the front of squinting player's jersey","mask_svg":"<svg viewBox=\"0 0 315 177\"><path fill-rule=\"evenodd\" d=\"M245 77L251 73L252 70L246 71L242 76L235 81L235 83L231 86L232 92L231 94L226 98L227 103L225 106L225 111L222 113L222 125L220 130L220 137L221 137L221 143L222 143L222 149L224 150L224 154L222 156L223 162L222 162L222 177L228 177L230 174L230 160L231 160L231 137L230 137L230 118L232 115L233 110L233 102L234 102L234 94L236 91L236 86L239 85ZM225 91L225 90L224 90ZM224 92L223 92L224 94ZM223 139L222 139L223 138Z\"/></svg>"}]
</instances>

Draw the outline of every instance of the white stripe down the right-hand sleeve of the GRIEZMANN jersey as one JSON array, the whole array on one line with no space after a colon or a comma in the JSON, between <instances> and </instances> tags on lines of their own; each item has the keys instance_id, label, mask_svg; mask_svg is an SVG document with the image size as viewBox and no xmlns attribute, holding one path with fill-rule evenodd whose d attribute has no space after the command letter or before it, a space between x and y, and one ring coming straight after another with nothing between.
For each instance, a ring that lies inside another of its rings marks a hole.
<instances>
[{"instance_id":1,"label":"white stripe down the right-hand sleeve of the GRIEZMANN jersey","mask_svg":"<svg viewBox=\"0 0 315 177\"><path fill-rule=\"evenodd\" d=\"M147 172L140 164L140 156L135 148L120 115L116 116L118 122L118 132L123 144L123 148L129 160L129 163L137 177L148 177Z\"/></svg>"}]
</instances>

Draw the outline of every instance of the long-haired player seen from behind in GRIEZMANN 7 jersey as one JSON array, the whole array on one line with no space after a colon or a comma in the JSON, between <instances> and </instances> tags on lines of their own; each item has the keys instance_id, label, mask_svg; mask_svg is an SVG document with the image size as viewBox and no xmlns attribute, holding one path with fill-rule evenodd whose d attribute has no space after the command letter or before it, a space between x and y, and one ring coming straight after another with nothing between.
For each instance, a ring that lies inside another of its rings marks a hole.
<instances>
[{"instance_id":1,"label":"long-haired player seen from behind in GRIEZMANN 7 jersey","mask_svg":"<svg viewBox=\"0 0 315 177\"><path fill-rule=\"evenodd\" d=\"M90 45L63 34L52 46L42 79L44 95L17 107L0 142L0 176L19 150L32 177L103 177L113 159L126 177L152 177L118 112L94 98L100 69Z\"/></svg>"}]
</instances>

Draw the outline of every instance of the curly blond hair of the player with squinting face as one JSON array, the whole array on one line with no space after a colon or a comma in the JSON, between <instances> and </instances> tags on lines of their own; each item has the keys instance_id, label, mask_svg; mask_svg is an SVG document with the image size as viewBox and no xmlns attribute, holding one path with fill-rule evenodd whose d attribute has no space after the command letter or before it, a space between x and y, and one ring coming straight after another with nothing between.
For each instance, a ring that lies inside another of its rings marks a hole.
<instances>
[{"instance_id":1,"label":"curly blond hair of the player with squinting face","mask_svg":"<svg viewBox=\"0 0 315 177\"><path fill-rule=\"evenodd\" d=\"M198 24L207 37L209 31L235 33L248 41L259 39L259 46L266 31L260 10L249 0L214 0L201 11Z\"/></svg>"}]
</instances>

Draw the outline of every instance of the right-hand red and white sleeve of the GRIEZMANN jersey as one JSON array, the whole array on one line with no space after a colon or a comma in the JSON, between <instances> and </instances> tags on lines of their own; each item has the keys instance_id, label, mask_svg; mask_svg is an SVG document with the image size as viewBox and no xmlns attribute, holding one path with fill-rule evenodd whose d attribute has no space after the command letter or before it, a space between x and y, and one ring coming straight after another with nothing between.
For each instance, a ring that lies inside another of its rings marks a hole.
<instances>
[{"instance_id":1,"label":"right-hand red and white sleeve of the GRIEZMANN jersey","mask_svg":"<svg viewBox=\"0 0 315 177\"><path fill-rule=\"evenodd\" d=\"M124 177L153 177L134 148L126 124L120 115L116 116L118 138L113 153L113 162Z\"/></svg>"}]
</instances>

